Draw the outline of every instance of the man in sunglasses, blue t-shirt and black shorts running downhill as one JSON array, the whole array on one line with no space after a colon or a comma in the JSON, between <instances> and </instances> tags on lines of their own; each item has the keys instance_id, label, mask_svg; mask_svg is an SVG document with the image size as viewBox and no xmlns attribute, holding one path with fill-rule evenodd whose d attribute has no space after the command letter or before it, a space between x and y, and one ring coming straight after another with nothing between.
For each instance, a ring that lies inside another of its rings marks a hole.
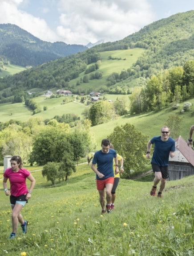
<instances>
[{"instance_id":1,"label":"man in sunglasses, blue t-shirt and black shorts running downhill","mask_svg":"<svg viewBox=\"0 0 194 256\"><path fill-rule=\"evenodd\" d=\"M155 136L148 141L146 157L150 159L151 145L154 144L154 153L151 161L154 172L154 186L150 191L150 195L156 194L157 184L160 182L160 189L158 191L158 198L162 197L162 191L166 185L166 179L169 178L168 162L169 155L174 157L175 142L169 137L170 129L163 126L161 129L161 136Z\"/></svg>"}]
</instances>

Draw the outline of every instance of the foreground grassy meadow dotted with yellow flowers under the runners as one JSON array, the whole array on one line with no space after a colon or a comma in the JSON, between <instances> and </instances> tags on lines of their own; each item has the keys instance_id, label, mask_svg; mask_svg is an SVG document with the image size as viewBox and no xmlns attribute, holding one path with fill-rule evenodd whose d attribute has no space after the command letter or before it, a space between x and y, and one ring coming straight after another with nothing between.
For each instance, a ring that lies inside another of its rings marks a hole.
<instances>
[{"instance_id":1,"label":"foreground grassy meadow dotted with yellow flowers under the runners","mask_svg":"<svg viewBox=\"0 0 194 256\"><path fill-rule=\"evenodd\" d=\"M22 210L28 233L22 235L18 227L11 241L11 207L0 186L0 255L193 256L194 176L167 182L163 198L150 196L150 181L121 179L115 210L101 215L95 176L87 164L56 186L35 167L27 169L36 178Z\"/></svg>"}]
</instances>

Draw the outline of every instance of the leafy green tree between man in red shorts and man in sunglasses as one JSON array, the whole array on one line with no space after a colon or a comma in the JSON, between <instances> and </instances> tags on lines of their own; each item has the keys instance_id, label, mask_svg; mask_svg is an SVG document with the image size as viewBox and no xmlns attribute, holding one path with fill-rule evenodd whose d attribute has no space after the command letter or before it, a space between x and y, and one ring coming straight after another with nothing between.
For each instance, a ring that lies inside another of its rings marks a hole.
<instances>
[{"instance_id":1,"label":"leafy green tree between man in red shorts and man in sunglasses","mask_svg":"<svg viewBox=\"0 0 194 256\"><path fill-rule=\"evenodd\" d=\"M125 178L130 177L130 169L135 171L145 168L145 151L148 137L138 132L131 124L114 128L109 140L114 149L124 158Z\"/></svg>"}]
</instances>

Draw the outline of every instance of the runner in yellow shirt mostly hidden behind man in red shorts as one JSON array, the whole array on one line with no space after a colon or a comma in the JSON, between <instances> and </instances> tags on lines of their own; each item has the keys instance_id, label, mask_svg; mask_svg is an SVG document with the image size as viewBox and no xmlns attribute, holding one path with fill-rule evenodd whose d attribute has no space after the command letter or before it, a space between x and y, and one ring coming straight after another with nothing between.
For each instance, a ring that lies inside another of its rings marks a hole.
<instances>
[{"instance_id":1,"label":"runner in yellow shirt mostly hidden behind man in red shorts","mask_svg":"<svg viewBox=\"0 0 194 256\"><path fill-rule=\"evenodd\" d=\"M110 149L113 149L113 144L110 143ZM119 154L117 154L117 158L118 158L118 161L120 161L121 163L121 167L120 167L120 170L121 170L121 173L124 172L124 169L123 169L123 157L121 157ZM117 186L118 186L118 182L120 180L120 174L119 173L115 173L115 161L113 161L113 171L114 171L114 183L113 183L113 188L112 188L112 191L111 191L111 194L112 194L112 199L111 199L111 209L114 210L114 201L115 201L115 198L116 198L116 189L117 189Z\"/></svg>"}]
</instances>

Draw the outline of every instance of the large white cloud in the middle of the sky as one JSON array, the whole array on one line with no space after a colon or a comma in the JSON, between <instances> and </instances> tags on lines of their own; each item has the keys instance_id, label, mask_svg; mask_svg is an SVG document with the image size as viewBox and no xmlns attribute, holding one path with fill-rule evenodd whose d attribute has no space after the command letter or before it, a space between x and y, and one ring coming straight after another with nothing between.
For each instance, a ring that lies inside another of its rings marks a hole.
<instances>
[{"instance_id":1,"label":"large white cloud in the middle of the sky","mask_svg":"<svg viewBox=\"0 0 194 256\"><path fill-rule=\"evenodd\" d=\"M153 21L147 0L60 0L57 33L68 43L116 41Z\"/></svg>"}]
</instances>

